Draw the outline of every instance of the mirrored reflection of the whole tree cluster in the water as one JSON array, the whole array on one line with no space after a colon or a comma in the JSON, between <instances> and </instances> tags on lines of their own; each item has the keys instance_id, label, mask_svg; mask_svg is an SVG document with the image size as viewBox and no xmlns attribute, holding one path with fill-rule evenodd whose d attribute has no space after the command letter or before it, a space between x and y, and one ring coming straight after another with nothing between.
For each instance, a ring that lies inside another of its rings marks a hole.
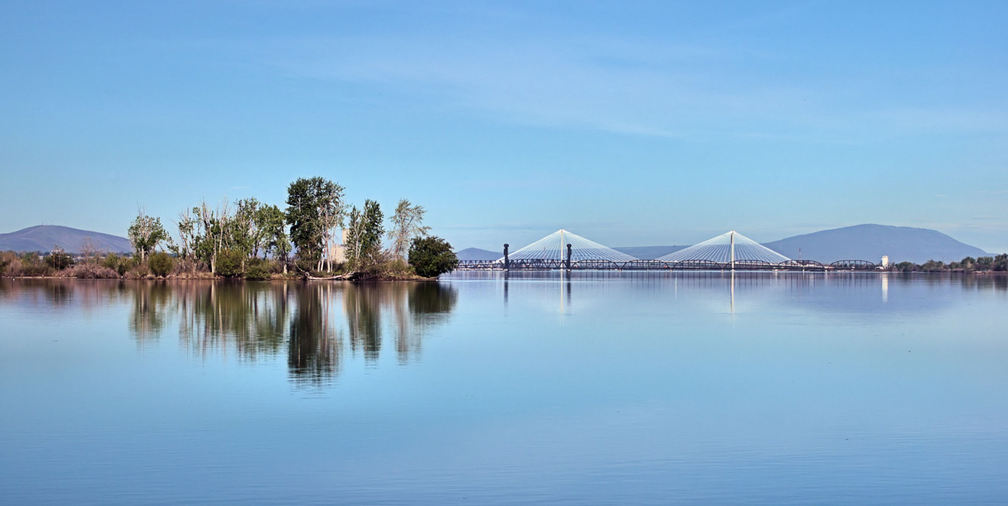
<instances>
[{"instance_id":1,"label":"mirrored reflection of the whole tree cluster in the water","mask_svg":"<svg viewBox=\"0 0 1008 506\"><path fill-rule=\"evenodd\" d=\"M408 362L419 354L425 330L443 322L458 298L455 288L437 283L180 281L125 289L138 343L156 340L176 322L179 342L196 358L234 353L254 362L285 349L298 385L322 385L339 374L345 336L352 354L377 362L384 326L395 337L399 363ZM383 322L386 314L391 319Z\"/></svg>"}]
</instances>

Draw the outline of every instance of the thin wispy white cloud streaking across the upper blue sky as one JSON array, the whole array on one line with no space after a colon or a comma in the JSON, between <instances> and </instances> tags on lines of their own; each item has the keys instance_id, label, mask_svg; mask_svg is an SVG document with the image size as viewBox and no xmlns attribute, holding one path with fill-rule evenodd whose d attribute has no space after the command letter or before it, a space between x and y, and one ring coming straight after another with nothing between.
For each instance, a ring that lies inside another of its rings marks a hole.
<instances>
[{"instance_id":1,"label":"thin wispy white cloud streaking across the upper blue sky","mask_svg":"<svg viewBox=\"0 0 1008 506\"><path fill-rule=\"evenodd\" d=\"M501 35L500 37L496 35ZM1004 111L852 99L849 84L775 77L779 56L630 37L394 33L273 40L250 57L296 78L366 84L497 121L670 139L851 142L1005 133Z\"/></svg>"}]
</instances>

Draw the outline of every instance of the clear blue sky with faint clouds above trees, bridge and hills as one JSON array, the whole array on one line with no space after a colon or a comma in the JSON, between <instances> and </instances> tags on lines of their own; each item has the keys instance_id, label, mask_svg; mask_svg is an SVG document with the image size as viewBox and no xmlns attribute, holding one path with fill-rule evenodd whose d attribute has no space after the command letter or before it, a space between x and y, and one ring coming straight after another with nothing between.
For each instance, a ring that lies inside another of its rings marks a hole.
<instances>
[{"instance_id":1,"label":"clear blue sky with faint clouds above trees, bridge and hills","mask_svg":"<svg viewBox=\"0 0 1008 506\"><path fill-rule=\"evenodd\" d=\"M1008 251L1006 2L0 7L0 232L322 175L457 248L878 223Z\"/></svg>"}]
</instances>

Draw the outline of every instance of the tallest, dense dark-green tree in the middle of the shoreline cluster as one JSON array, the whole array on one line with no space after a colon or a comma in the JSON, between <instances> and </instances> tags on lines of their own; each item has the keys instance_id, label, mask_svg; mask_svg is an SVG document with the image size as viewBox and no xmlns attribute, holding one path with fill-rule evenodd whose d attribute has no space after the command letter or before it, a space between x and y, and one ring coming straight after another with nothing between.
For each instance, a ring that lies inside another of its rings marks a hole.
<instances>
[{"instance_id":1,"label":"tallest, dense dark-green tree in the middle of the shoreline cluster","mask_svg":"<svg viewBox=\"0 0 1008 506\"><path fill-rule=\"evenodd\" d=\"M322 270L332 258L328 254L333 230L343 226L345 206L343 186L323 177L298 178L287 187L287 223L297 256Z\"/></svg>"}]
</instances>

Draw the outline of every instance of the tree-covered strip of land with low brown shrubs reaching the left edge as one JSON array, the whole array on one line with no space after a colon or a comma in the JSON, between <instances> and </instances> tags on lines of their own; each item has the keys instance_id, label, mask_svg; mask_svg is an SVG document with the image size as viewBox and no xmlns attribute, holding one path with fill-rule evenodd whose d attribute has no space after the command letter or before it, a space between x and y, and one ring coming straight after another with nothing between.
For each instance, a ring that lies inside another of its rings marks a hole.
<instances>
[{"instance_id":1,"label":"tree-covered strip of land with low brown shrubs reaching the left edge","mask_svg":"<svg viewBox=\"0 0 1008 506\"><path fill-rule=\"evenodd\" d=\"M426 237L430 228L423 225L421 206L400 200L387 233L377 202L366 200L349 213L347 208L340 184L324 177L298 178L287 187L286 209L254 198L216 207L203 201L178 215L175 237L160 218L141 210L127 231L132 256L103 254L91 247L77 257L59 249L48 254L6 252L0 253L0 275L388 279L436 276L458 264L447 242ZM343 245L337 244L341 232ZM386 238L388 249L382 244ZM292 265L296 269L291 270Z\"/></svg>"}]
</instances>

